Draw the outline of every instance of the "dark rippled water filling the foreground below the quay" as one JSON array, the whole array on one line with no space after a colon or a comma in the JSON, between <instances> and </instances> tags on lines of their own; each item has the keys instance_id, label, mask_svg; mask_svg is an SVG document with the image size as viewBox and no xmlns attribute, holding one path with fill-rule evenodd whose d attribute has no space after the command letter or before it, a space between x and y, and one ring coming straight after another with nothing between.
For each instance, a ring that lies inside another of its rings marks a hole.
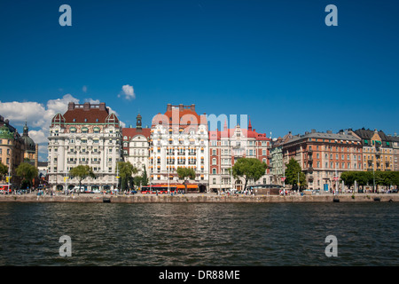
<instances>
[{"instance_id":1,"label":"dark rippled water filling the foreground below the quay","mask_svg":"<svg viewBox=\"0 0 399 284\"><path fill-rule=\"evenodd\" d=\"M0 265L398 265L399 203L0 203ZM72 256L59 256L59 237ZM335 235L338 256L325 256Z\"/></svg>"}]
</instances>

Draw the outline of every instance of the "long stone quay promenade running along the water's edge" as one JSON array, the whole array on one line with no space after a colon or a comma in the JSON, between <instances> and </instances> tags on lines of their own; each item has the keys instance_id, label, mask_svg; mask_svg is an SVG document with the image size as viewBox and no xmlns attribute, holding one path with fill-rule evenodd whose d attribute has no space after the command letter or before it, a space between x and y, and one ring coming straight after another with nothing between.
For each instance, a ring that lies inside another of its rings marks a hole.
<instances>
[{"instance_id":1,"label":"long stone quay promenade running along the water's edge","mask_svg":"<svg viewBox=\"0 0 399 284\"><path fill-rule=\"evenodd\" d=\"M45 194L38 196L36 193L27 194L0 194L0 202L111 202L111 203L239 203L239 202L397 202L399 193L342 193L334 196L332 193L287 196L278 195L218 195L216 193L187 193L187 194L141 194L111 195L101 193L81 194Z\"/></svg>"}]
</instances>

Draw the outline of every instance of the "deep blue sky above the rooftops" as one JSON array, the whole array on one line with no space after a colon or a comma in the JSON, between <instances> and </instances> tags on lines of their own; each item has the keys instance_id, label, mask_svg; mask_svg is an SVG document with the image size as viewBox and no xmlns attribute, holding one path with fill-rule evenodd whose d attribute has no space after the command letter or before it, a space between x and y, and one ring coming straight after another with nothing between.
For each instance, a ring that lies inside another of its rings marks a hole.
<instances>
[{"instance_id":1,"label":"deep blue sky above the rooftops","mask_svg":"<svg viewBox=\"0 0 399 284\"><path fill-rule=\"evenodd\" d=\"M59 25L61 4L72 27ZM338 8L337 27L325 25L327 4ZM7 103L47 111L63 98L105 101L126 125L138 112L150 124L168 103L195 104L200 114L247 114L272 137L393 134L398 12L393 0L2 0L0 114L20 132L27 119L41 145L45 122Z\"/></svg>"}]
</instances>

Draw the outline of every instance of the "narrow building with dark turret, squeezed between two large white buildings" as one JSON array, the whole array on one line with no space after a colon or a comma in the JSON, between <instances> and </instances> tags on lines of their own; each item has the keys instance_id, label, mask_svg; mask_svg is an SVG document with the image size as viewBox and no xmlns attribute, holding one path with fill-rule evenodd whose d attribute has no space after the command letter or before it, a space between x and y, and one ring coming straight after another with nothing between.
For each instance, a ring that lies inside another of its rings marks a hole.
<instances>
[{"instance_id":1,"label":"narrow building with dark turret, squeezed between two large white buildings","mask_svg":"<svg viewBox=\"0 0 399 284\"><path fill-rule=\"evenodd\" d=\"M142 117L137 114L136 128L122 128L123 159L137 169L137 176L149 170L150 128L142 127Z\"/></svg>"}]
</instances>

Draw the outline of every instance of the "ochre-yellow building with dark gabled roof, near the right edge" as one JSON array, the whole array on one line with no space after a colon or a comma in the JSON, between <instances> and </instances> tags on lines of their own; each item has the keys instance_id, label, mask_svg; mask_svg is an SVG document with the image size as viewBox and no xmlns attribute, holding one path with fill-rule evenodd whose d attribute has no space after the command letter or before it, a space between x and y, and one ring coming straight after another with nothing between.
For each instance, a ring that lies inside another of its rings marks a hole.
<instances>
[{"instance_id":1,"label":"ochre-yellow building with dark gabled roof, near the right edge","mask_svg":"<svg viewBox=\"0 0 399 284\"><path fill-rule=\"evenodd\" d=\"M382 130L349 130L363 146L364 170L394 170L394 147Z\"/></svg>"}]
</instances>

